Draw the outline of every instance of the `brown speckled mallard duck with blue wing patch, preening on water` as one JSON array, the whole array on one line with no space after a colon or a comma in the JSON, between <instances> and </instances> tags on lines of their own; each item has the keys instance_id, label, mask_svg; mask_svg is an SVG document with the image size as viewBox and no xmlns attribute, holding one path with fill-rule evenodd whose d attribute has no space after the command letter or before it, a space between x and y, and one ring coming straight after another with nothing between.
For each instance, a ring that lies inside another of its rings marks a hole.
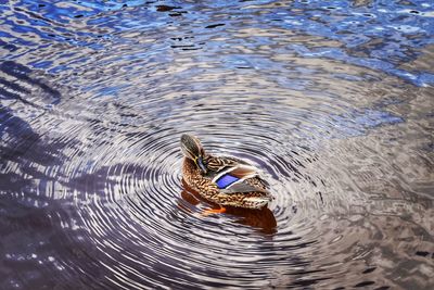
<instances>
[{"instance_id":1,"label":"brown speckled mallard duck with blue wing patch, preening on water","mask_svg":"<svg viewBox=\"0 0 434 290\"><path fill-rule=\"evenodd\" d=\"M189 187L201 197L220 205L212 213L224 213L224 206L261 209L272 200L258 169L232 156L207 154L201 141L188 134L181 136L184 154L182 175ZM209 211L208 211L209 213Z\"/></svg>"}]
</instances>

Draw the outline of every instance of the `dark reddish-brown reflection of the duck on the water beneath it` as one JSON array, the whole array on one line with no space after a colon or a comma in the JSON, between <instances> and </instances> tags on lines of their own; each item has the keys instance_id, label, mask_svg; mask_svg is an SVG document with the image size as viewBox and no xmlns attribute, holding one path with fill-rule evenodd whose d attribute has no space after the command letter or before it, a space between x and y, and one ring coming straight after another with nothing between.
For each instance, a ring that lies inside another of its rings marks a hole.
<instances>
[{"instance_id":1,"label":"dark reddish-brown reflection of the duck on the water beneath it","mask_svg":"<svg viewBox=\"0 0 434 290\"><path fill-rule=\"evenodd\" d=\"M181 198L188 204L192 206L196 206L201 202L209 204L213 209L219 209L220 205L216 203L212 203L208 200L204 199L197 191L190 188L189 185L182 179L183 190L181 191ZM193 211L186 206L182 203L178 204L183 211L193 213ZM277 232L277 222L275 214L267 207L263 209L242 209L234 206L226 206L227 214L239 217L235 222L242 225L251 226L257 228L259 231L271 235Z\"/></svg>"}]
</instances>

